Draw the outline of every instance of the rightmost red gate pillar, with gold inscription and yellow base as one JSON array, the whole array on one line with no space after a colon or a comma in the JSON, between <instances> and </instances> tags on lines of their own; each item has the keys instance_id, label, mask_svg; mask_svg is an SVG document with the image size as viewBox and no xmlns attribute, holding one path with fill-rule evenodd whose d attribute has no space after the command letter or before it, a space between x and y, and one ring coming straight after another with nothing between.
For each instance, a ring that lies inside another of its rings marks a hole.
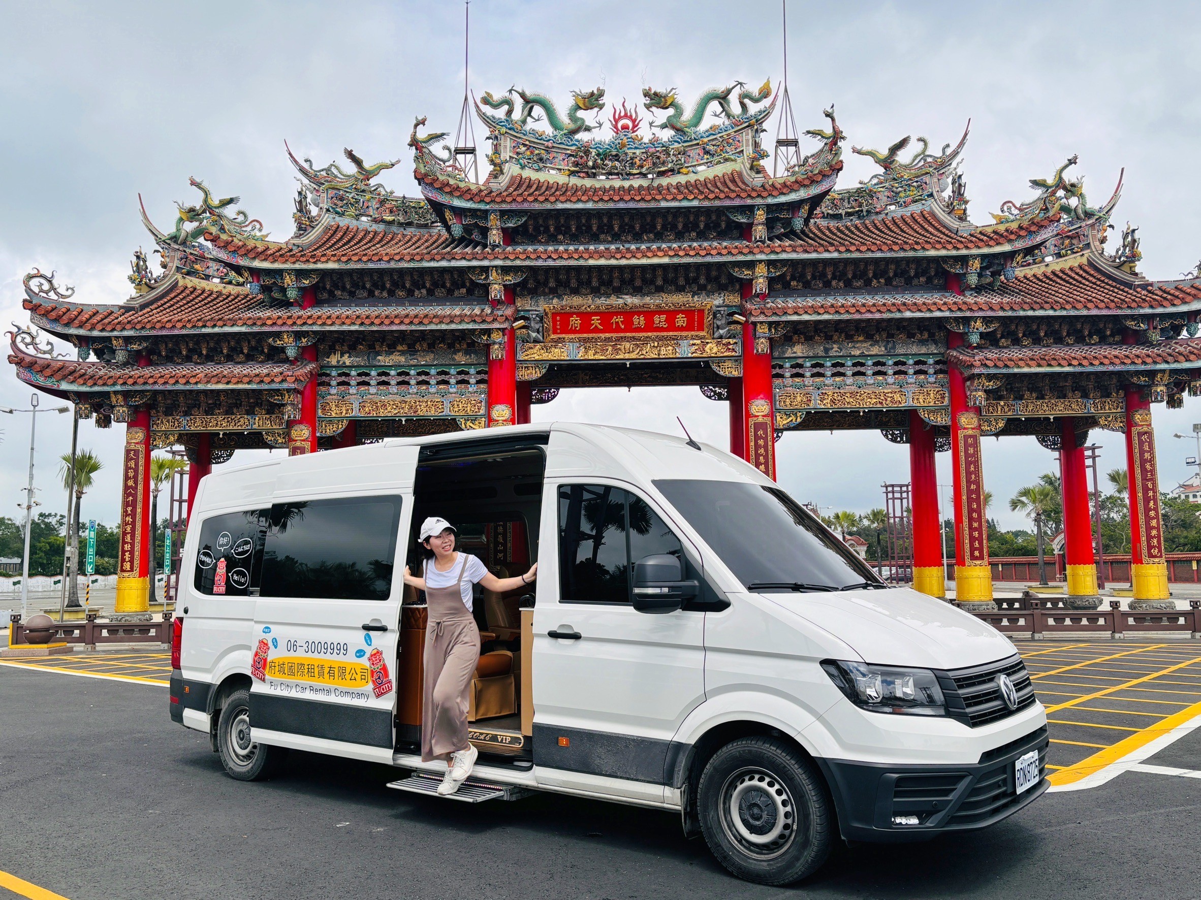
<instances>
[{"instance_id":1,"label":"rightmost red gate pillar, with gold inscription and yellow base","mask_svg":"<svg viewBox=\"0 0 1201 900\"><path fill-rule=\"evenodd\" d=\"M1127 401L1127 493L1130 499L1130 587L1133 608L1170 602L1164 524L1159 509L1159 473L1151 401L1130 385ZM1136 606L1137 605L1137 606ZM1154 606L1152 606L1154 608Z\"/></svg>"}]
</instances>

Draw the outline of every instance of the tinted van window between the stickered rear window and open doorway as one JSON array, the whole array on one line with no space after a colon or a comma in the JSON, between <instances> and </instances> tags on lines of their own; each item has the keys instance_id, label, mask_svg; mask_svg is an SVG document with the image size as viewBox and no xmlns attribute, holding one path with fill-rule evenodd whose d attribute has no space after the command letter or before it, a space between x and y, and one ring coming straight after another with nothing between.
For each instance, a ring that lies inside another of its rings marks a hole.
<instances>
[{"instance_id":1,"label":"tinted van window between the stickered rear window and open doorway","mask_svg":"<svg viewBox=\"0 0 1201 900\"><path fill-rule=\"evenodd\" d=\"M400 497L276 503L263 550L263 596L387 600Z\"/></svg>"}]
</instances>

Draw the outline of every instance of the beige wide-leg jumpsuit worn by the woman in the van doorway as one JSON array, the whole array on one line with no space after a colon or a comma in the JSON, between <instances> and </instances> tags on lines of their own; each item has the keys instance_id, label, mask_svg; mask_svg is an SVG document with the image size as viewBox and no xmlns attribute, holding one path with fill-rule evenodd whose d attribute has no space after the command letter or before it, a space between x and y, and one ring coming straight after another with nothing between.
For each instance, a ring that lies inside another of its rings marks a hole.
<instances>
[{"instance_id":1,"label":"beige wide-leg jumpsuit worn by the woman in the van doorway","mask_svg":"<svg viewBox=\"0 0 1201 900\"><path fill-rule=\"evenodd\" d=\"M425 680L422 686L422 762L467 749L471 678L479 664L479 628L460 593L467 557L459 553L454 587L425 589ZM426 563L425 571L429 571Z\"/></svg>"}]
</instances>

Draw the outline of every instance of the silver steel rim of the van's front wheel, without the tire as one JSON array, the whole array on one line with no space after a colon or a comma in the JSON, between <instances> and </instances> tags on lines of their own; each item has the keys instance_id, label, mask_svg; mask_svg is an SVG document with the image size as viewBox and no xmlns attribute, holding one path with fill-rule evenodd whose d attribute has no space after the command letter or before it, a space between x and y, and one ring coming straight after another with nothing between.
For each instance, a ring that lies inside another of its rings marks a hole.
<instances>
[{"instance_id":1,"label":"silver steel rim of the van's front wheel, without the tire","mask_svg":"<svg viewBox=\"0 0 1201 900\"><path fill-rule=\"evenodd\" d=\"M796 804L784 784L766 769L739 769L722 785L722 828L747 856L773 859L796 838Z\"/></svg>"}]
</instances>

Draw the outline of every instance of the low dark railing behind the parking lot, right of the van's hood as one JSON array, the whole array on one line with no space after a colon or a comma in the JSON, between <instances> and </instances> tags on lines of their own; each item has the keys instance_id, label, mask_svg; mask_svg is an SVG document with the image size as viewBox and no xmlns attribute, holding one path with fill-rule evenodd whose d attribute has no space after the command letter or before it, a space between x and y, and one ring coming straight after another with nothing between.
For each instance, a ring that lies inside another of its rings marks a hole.
<instances>
[{"instance_id":1,"label":"low dark railing behind the parking lot, right of the van's hood","mask_svg":"<svg viewBox=\"0 0 1201 900\"><path fill-rule=\"evenodd\" d=\"M1024 608L1023 608L1024 607ZM1109 634L1113 640L1129 634L1175 631L1193 640L1201 638L1201 600L1190 600L1188 610L1123 610L1118 600L1109 610L1044 608L1041 600L1012 602L997 612L974 612L1004 635L1026 635L1034 641L1047 636Z\"/></svg>"}]
</instances>

